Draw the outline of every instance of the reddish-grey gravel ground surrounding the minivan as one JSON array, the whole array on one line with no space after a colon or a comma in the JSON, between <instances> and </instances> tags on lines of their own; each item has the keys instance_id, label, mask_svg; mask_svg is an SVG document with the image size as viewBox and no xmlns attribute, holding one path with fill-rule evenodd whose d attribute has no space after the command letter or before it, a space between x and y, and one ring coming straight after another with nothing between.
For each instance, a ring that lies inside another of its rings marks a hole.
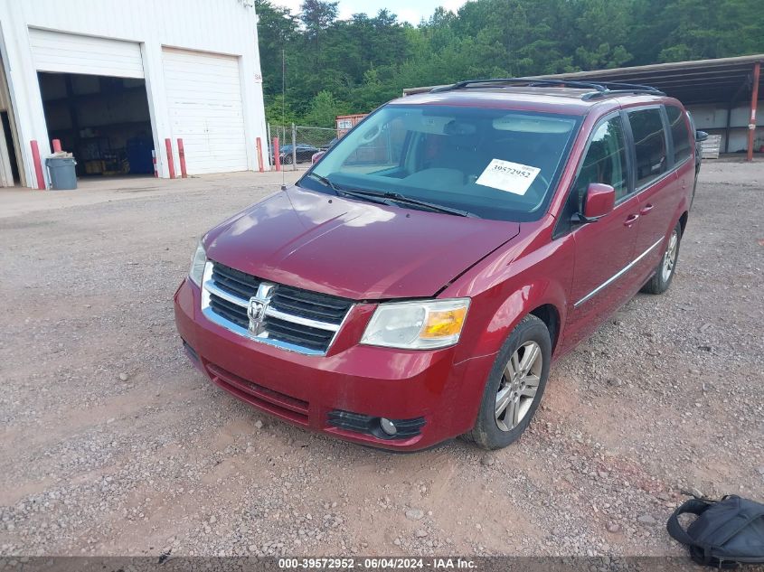
<instances>
[{"instance_id":1,"label":"reddish-grey gravel ground surrounding the minivan","mask_svg":"<svg viewBox=\"0 0 764 572\"><path fill-rule=\"evenodd\" d=\"M174 288L274 182L0 218L0 555L683 555L681 490L764 501L764 164L704 165L669 292L557 363L487 455L309 434L193 369Z\"/></svg>"}]
</instances>

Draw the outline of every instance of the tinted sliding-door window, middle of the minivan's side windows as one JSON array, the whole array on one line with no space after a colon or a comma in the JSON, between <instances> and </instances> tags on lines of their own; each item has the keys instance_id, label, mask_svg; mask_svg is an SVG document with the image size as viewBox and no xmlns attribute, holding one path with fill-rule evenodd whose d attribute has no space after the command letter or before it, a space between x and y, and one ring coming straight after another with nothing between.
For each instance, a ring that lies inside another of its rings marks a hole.
<instances>
[{"instance_id":1,"label":"tinted sliding-door window, middle of the minivan's side windows","mask_svg":"<svg viewBox=\"0 0 764 572\"><path fill-rule=\"evenodd\" d=\"M658 108L638 109L628 114L637 152L637 188L657 179L668 169L665 132Z\"/></svg>"}]
</instances>

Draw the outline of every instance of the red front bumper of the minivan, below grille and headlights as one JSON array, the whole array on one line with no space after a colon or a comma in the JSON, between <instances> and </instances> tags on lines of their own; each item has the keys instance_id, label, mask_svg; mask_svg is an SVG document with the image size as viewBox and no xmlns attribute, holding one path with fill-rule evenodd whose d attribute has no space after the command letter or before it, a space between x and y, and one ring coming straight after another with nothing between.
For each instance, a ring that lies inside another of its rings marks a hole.
<instances>
[{"instance_id":1,"label":"red front bumper of the minivan, below grille and headlights","mask_svg":"<svg viewBox=\"0 0 764 572\"><path fill-rule=\"evenodd\" d=\"M455 348L358 345L374 305L354 306L325 356L289 352L213 324L202 314L200 295L188 279L174 295L175 323L189 356L222 389L256 408L300 427L401 451L435 445L474 425L494 356L455 363ZM467 390L474 403L464 402L466 383L475 385ZM336 427L337 411L424 424L416 435L383 438Z\"/></svg>"}]
</instances>

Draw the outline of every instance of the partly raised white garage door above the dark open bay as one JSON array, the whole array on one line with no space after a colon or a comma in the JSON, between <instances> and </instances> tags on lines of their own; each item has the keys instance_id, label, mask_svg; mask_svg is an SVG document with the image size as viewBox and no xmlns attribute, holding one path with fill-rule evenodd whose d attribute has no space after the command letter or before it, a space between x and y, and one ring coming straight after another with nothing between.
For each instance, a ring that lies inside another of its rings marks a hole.
<instances>
[{"instance_id":1,"label":"partly raised white garage door above the dark open bay","mask_svg":"<svg viewBox=\"0 0 764 572\"><path fill-rule=\"evenodd\" d=\"M76 33L29 29L38 71L142 78L143 60L136 42L106 40Z\"/></svg>"}]
</instances>

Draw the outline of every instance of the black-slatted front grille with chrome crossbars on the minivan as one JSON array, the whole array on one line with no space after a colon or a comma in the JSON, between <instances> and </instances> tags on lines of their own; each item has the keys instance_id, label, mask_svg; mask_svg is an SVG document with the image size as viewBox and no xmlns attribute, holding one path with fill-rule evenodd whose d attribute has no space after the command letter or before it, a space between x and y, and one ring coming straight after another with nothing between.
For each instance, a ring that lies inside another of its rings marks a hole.
<instances>
[{"instance_id":1,"label":"black-slatted front grille with chrome crossbars on the minivan","mask_svg":"<svg viewBox=\"0 0 764 572\"><path fill-rule=\"evenodd\" d=\"M231 332L295 352L325 354L340 329L352 300L301 288L275 285L261 331L250 331L250 298L272 283L212 260L204 268L202 312Z\"/></svg>"}]
</instances>

